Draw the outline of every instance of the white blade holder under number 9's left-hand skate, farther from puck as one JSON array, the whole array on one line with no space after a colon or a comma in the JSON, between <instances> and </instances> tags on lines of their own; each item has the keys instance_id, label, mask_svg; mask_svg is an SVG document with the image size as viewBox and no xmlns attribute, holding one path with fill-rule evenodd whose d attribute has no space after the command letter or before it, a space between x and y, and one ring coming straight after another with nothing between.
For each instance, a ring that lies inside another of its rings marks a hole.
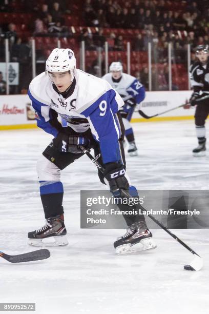
<instances>
[{"instance_id":1,"label":"white blade holder under number 9's left-hand skate, farther from puck","mask_svg":"<svg viewBox=\"0 0 209 314\"><path fill-rule=\"evenodd\" d=\"M68 240L66 235L57 235L56 237L49 237L45 239L28 239L28 244L33 246L64 246L68 245Z\"/></svg>"}]
</instances>

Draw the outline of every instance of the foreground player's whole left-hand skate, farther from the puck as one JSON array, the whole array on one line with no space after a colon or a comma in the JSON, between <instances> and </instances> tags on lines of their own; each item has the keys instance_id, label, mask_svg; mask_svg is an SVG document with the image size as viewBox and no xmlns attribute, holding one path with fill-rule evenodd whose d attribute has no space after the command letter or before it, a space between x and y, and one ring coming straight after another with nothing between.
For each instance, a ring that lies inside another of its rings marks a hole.
<instances>
[{"instance_id":1,"label":"foreground player's whole left-hand skate, farther from the puck","mask_svg":"<svg viewBox=\"0 0 209 314\"><path fill-rule=\"evenodd\" d=\"M64 215L57 215L46 220L46 224L32 232L28 232L28 244L34 246L68 245L66 238Z\"/></svg>"}]
</instances>

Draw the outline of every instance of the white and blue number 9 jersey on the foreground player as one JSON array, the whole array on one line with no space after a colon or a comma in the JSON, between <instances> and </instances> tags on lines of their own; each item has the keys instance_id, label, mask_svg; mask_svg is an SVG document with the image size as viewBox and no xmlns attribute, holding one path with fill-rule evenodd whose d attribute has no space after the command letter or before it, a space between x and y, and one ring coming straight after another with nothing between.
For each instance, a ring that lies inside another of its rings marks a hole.
<instances>
[{"instance_id":1,"label":"white and blue number 9 jersey on the foreground player","mask_svg":"<svg viewBox=\"0 0 209 314\"><path fill-rule=\"evenodd\" d=\"M76 132L91 129L99 142L103 163L118 161L121 133L116 112L123 100L107 81L81 70L76 69L75 81L74 91L64 99L45 72L32 80L28 94L36 111L37 126L56 137L59 130L52 121L58 114Z\"/></svg>"}]
</instances>

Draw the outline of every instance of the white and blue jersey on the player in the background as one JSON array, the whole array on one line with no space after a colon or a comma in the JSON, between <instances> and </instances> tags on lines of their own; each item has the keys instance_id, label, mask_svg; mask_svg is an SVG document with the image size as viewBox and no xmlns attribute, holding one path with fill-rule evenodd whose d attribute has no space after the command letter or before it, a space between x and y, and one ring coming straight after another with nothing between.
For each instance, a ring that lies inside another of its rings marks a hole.
<instances>
[{"instance_id":1,"label":"white and blue jersey on the player in the background","mask_svg":"<svg viewBox=\"0 0 209 314\"><path fill-rule=\"evenodd\" d=\"M114 82L112 74L107 73L102 78L119 93L124 102L130 98L134 98L135 103L139 104L144 100L145 89L136 77L127 73L122 73L121 80L119 82Z\"/></svg>"}]
</instances>

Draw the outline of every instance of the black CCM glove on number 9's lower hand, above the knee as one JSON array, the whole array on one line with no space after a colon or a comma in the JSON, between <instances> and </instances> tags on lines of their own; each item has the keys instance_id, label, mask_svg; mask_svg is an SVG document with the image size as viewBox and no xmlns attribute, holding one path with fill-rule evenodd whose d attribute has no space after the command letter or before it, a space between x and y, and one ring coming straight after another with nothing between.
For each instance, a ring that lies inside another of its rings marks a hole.
<instances>
[{"instance_id":1,"label":"black CCM glove on number 9's lower hand, above the knee","mask_svg":"<svg viewBox=\"0 0 209 314\"><path fill-rule=\"evenodd\" d=\"M124 176L125 169L123 165L118 163L108 163L105 167L104 176L110 185L110 191L114 196L128 197L129 182Z\"/></svg>"}]
</instances>

